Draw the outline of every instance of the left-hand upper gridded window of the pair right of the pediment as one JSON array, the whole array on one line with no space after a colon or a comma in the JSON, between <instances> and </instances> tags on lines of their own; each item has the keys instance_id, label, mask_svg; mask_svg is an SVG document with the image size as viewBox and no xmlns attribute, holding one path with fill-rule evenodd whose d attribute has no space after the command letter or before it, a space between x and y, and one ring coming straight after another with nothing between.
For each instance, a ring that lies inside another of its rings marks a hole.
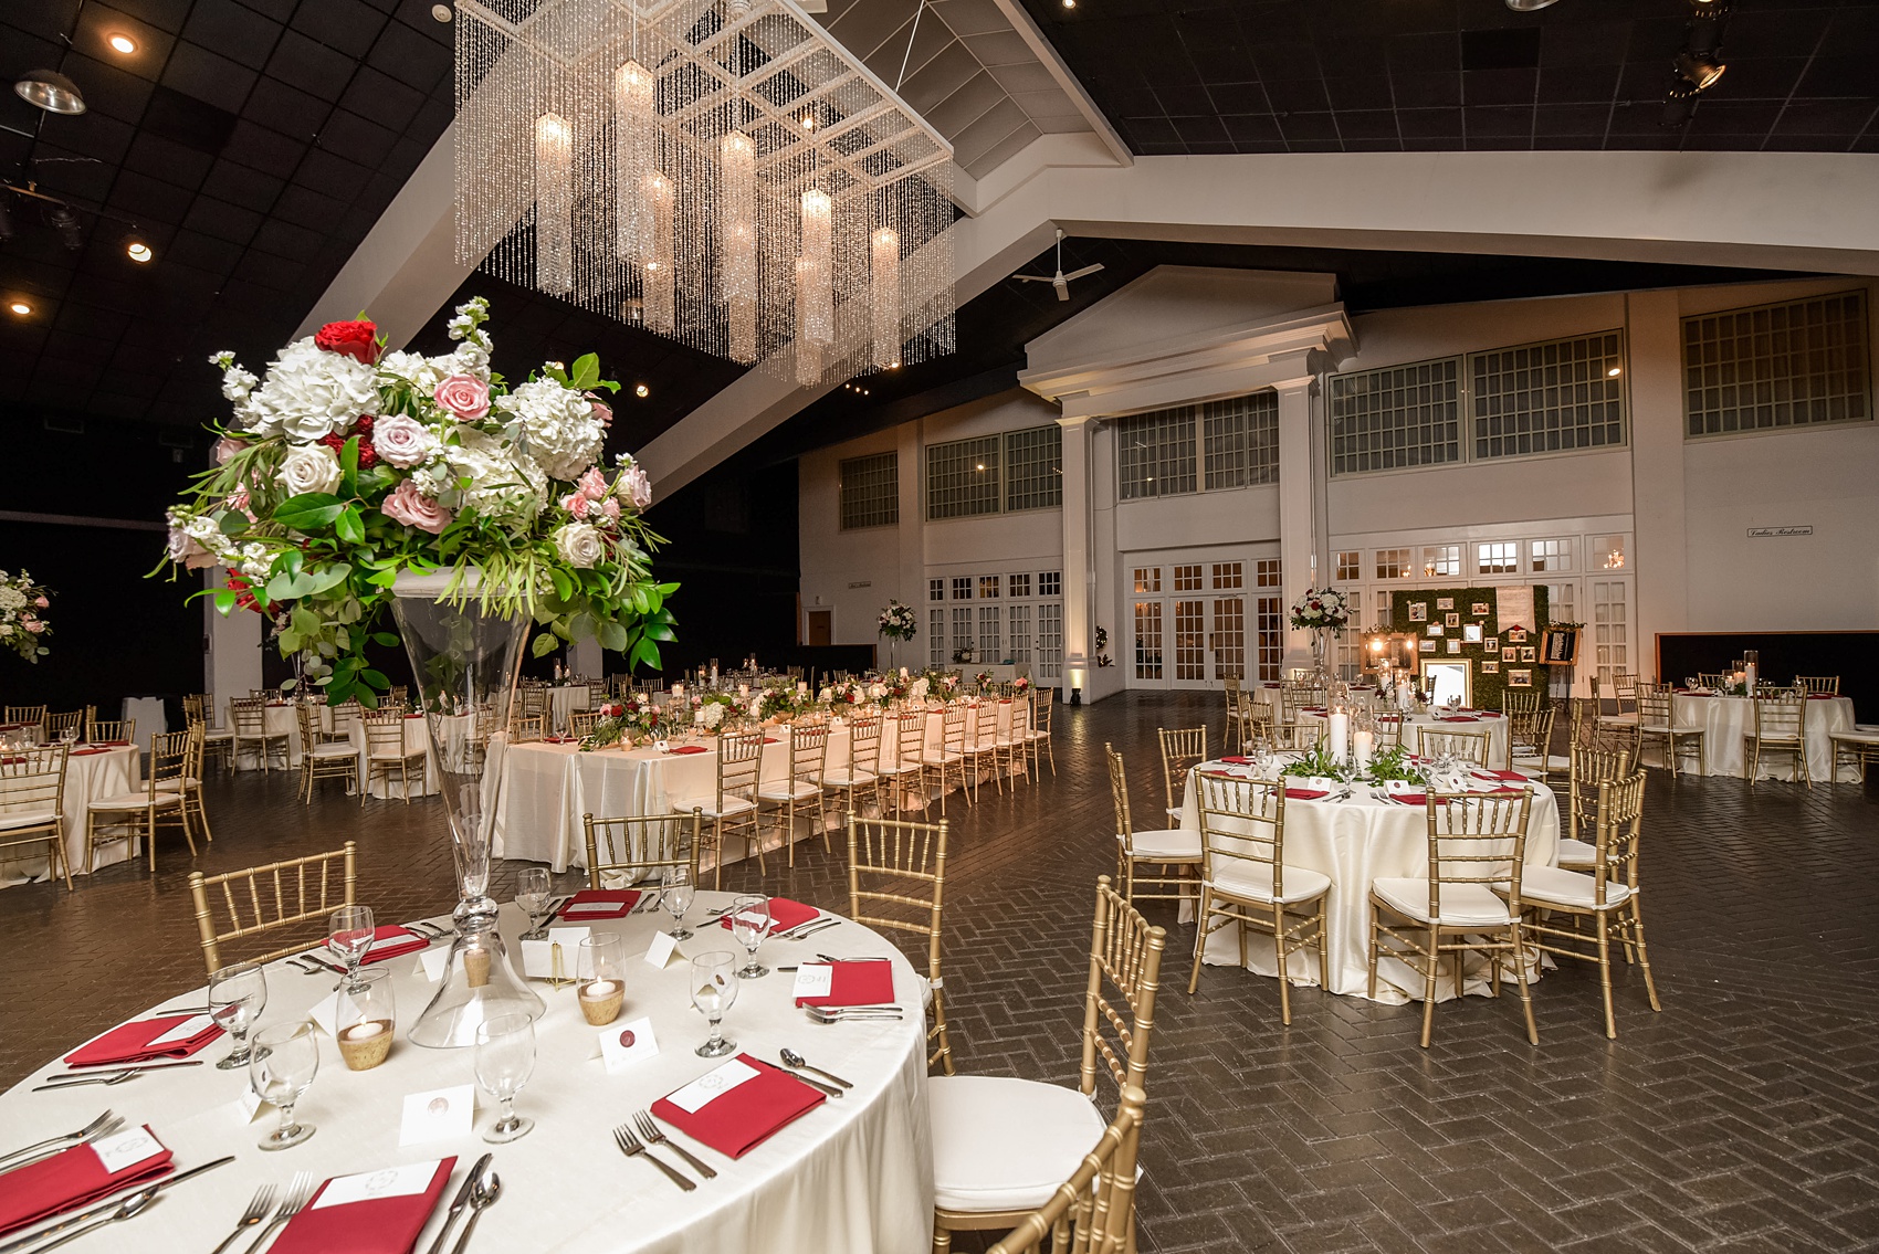
<instances>
[{"instance_id":1,"label":"left-hand upper gridded window of the pair right of the pediment","mask_svg":"<svg viewBox=\"0 0 1879 1254\"><path fill-rule=\"evenodd\" d=\"M1462 460L1462 359L1330 375L1330 473Z\"/></svg>"}]
</instances>

